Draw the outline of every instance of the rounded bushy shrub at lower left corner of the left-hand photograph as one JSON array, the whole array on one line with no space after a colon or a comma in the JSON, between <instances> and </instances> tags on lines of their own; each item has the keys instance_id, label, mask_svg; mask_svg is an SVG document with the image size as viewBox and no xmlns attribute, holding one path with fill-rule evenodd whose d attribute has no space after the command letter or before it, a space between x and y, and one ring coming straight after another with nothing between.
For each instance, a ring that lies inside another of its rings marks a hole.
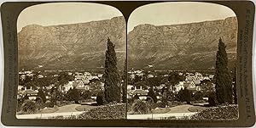
<instances>
[{"instance_id":1,"label":"rounded bushy shrub at lower left corner of the left-hand photograph","mask_svg":"<svg viewBox=\"0 0 256 128\"><path fill-rule=\"evenodd\" d=\"M22 114L35 114L38 111L37 106L35 102L28 99L21 105L20 110Z\"/></svg>"}]
</instances>

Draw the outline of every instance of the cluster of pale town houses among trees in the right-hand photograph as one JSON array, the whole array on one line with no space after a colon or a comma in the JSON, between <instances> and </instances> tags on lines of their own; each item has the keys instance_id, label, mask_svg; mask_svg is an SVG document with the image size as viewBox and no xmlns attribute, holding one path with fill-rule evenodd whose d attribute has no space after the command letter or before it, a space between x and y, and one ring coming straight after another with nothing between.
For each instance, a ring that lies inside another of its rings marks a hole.
<instances>
[{"instance_id":1,"label":"cluster of pale town houses among trees in the right-hand photograph","mask_svg":"<svg viewBox=\"0 0 256 128\"><path fill-rule=\"evenodd\" d=\"M131 80L134 80L137 76L145 76L145 73L143 70L132 70L128 72L128 75L130 77ZM189 91L191 91L192 93L195 94L195 92L201 92L202 91L202 81L212 81L214 75L202 75L199 72L195 72L195 73L182 73L182 72L178 72L178 75L182 75L185 79L183 81L178 81L178 83L176 85L171 85L171 87L169 88L170 92L173 93L178 93L183 89L188 89ZM169 75L163 75L164 77L168 77ZM155 75L154 72L149 72L149 74L147 73L146 75L147 78L151 78L151 77L158 77L157 75ZM154 90L161 90L164 87L166 87L166 85L168 84L169 81L166 82L161 82L159 86L153 86ZM214 87L215 85L212 83L212 87ZM135 85L128 85L127 86L127 95L128 97L134 97L135 95L140 96L140 98L144 98L145 96L148 95L148 89L150 87L147 86L147 88L143 88L142 86L137 87Z\"/></svg>"}]
</instances>

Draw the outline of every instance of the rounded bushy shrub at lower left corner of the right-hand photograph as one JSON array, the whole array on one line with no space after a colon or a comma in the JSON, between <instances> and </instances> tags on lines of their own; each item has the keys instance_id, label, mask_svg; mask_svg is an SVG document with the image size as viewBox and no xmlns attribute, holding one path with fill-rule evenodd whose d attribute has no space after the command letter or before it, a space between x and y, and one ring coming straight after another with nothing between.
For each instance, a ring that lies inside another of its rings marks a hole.
<instances>
[{"instance_id":1,"label":"rounded bushy shrub at lower left corner of the right-hand photograph","mask_svg":"<svg viewBox=\"0 0 256 128\"><path fill-rule=\"evenodd\" d=\"M149 111L148 104L141 100L136 100L132 105L132 110L134 114L147 114Z\"/></svg>"}]
</instances>

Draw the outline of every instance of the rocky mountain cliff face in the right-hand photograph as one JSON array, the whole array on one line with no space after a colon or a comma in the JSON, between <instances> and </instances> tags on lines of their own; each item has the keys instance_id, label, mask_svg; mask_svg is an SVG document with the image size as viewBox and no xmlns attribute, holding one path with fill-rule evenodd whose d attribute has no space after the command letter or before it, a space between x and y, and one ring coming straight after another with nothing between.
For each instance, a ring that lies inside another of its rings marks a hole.
<instances>
[{"instance_id":1,"label":"rocky mountain cliff face in the right-hand photograph","mask_svg":"<svg viewBox=\"0 0 256 128\"><path fill-rule=\"evenodd\" d=\"M236 62L236 17L183 25L137 25L128 35L132 68L208 69L215 67L221 37L233 67Z\"/></svg>"}]
</instances>

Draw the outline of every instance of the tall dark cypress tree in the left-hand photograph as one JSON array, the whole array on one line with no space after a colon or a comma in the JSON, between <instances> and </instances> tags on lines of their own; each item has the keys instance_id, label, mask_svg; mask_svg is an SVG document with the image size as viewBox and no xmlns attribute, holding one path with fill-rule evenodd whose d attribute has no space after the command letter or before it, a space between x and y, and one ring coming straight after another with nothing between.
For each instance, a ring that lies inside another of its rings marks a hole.
<instances>
[{"instance_id":1,"label":"tall dark cypress tree in the left-hand photograph","mask_svg":"<svg viewBox=\"0 0 256 128\"><path fill-rule=\"evenodd\" d=\"M117 58L113 42L108 38L105 60L105 98L108 103L120 101L120 81L117 69Z\"/></svg>"}]
</instances>

